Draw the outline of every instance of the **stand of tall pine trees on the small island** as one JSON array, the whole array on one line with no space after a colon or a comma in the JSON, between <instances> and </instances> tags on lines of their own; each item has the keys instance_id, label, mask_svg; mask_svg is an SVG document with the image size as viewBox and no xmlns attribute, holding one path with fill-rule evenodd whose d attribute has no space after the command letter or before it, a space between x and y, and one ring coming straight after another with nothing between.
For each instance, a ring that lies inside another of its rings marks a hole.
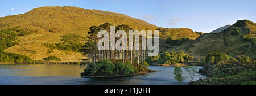
<instances>
[{"instance_id":1,"label":"stand of tall pine trees on the small island","mask_svg":"<svg viewBox=\"0 0 256 96\"><path fill-rule=\"evenodd\" d=\"M84 53L89 54L92 57L92 62L96 64L96 62L100 62L102 60L113 60L113 59L122 59L122 62L125 63L126 60L130 60L131 64L135 66L136 69L138 69L139 64L147 64L145 62L146 58L146 51L142 50L100 50L97 48L98 40L101 38L97 37L97 33L101 30L106 30L109 33L109 41L110 41L110 26L112 24L104 23L100 26L92 26L90 27L90 31L88 32L89 36L89 42L86 42L81 51L84 51ZM129 26L122 24L115 27L115 33L118 30L125 30L128 36L129 30L133 30L133 28L130 28ZM119 40L119 38L115 38L115 40ZM125 49L129 49L129 43L127 38L127 47ZM135 40L134 40L135 41ZM110 42L109 42L110 43ZM116 43L119 43L118 41ZM122 44L122 43L121 43ZM110 45L110 44L109 44ZM134 49L134 46L132 46ZM140 47L141 47L141 36L140 36ZM109 46L110 49L110 46Z\"/></svg>"}]
</instances>

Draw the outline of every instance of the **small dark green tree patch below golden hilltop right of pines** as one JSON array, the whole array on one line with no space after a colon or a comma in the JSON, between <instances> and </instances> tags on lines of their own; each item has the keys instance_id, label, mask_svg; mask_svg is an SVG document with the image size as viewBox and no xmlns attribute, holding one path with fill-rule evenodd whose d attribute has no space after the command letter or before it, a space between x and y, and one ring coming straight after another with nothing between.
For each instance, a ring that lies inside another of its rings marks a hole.
<instances>
[{"instance_id":1,"label":"small dark green tree patch below golden hilltop right of pines","mask_svg":"<svg viewBox=\"0 0 256 96\"><path fill-rule=\"evenodd\" d=\"M189 41L189 38L181 38L181 40L172 40L167 38L166 43L170 46L180 46L182 43Z\"/></svg>"}]
</instances>

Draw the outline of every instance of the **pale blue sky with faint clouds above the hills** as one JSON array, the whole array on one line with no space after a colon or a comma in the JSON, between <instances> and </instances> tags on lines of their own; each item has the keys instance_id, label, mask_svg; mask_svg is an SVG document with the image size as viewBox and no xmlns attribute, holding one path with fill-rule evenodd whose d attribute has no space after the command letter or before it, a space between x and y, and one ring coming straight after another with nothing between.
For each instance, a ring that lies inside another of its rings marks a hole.
<instances>
[{"instance_id":1,"label":"pale blue sky with faint clouds above the hills","mask_svg":"<svg viewBox=\"0 0 256 96\"><path fill-rule=\"evenodd\" d=\"M163 28L209 33L237 20L256 21L255 0L1 0L0 17L43 6L75 6L112 11Z\"/></svg>"}]
</instances>

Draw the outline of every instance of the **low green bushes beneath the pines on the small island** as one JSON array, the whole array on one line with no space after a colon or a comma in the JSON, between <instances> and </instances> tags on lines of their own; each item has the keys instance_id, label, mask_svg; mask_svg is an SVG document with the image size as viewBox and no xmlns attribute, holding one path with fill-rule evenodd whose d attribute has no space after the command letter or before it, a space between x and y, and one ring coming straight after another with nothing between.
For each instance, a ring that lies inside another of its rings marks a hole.
<instances>
[{"instance_id":1,"label":"low green bushes beneath the pines on the small island","mask_svg":"<svg viewBox=\"0 0 256 96\"><path fill-rule=\"evenodd\" d=\"M121 59L117 60L102 60L96 64L89 63L81 73L81 76L116 76L116 75L129 75L138 72L146 72L147 68L141 65L135 69L130 60L125 63Z\"/></svg>"}]
</instances>

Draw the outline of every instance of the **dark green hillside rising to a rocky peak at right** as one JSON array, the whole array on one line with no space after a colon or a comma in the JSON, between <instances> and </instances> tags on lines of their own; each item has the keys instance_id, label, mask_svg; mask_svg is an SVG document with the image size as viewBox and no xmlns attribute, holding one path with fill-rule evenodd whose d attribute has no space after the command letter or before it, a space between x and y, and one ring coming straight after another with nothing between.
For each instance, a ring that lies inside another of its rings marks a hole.
<instances>
[{"instance_id":1,"label":"dark green hillside rising to a rocky peak at right","mask_svg":"<svg viewBox=\"0 0 256 96\"><path fill-rule=\"evenodd\" d=\"M220 33L205 33L169 51L184 51L196 59L209 52L222 52L229 56L243 54L256 58L256 24L249 20L238 20Z\"/></svg>"}]
</instances>

